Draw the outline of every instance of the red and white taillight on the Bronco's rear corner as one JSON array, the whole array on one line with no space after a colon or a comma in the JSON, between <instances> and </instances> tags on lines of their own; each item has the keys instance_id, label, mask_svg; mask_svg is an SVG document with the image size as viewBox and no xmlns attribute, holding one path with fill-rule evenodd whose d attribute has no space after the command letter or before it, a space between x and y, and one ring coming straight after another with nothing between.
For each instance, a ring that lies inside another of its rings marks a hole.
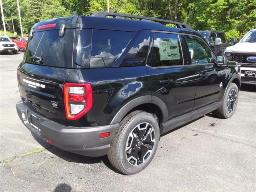
<instances>
[{"instance_id":1,"label":"red and white taillight on the Bronco's rear corner","mask_svg":"<svg viewBox=\"0 0 256 192\"><path fill-rule=\"evenodd\" d=\"M92 87L89 83L64 84L66 118L76 120L92 108Z\"/></svg>"}]
</instances>

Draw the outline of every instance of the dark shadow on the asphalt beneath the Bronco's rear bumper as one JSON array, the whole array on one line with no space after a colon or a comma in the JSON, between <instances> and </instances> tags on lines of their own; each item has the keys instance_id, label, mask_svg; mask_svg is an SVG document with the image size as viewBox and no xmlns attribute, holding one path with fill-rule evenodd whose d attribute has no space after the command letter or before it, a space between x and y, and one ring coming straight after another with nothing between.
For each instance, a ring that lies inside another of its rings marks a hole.
<instances>
[{"instance_id":1,"label":"dark shadow on the asphalt beneath the Bronco's rear bumper","mask_svg":"<svg viewBox=\"0 0 256 192\"><path fill-rule=\"evenodd\" d=\"M50 145L49 143L47 143L44 140L42 140L41 138L39 138L33 132L31 132L31 134L34 137L34 139L42 147L46 147L46 146ZM122 174L121 172L116 170L114 167L112 167L112 165L110 164L110 162L108 160L108 156L107 155L101 156L101 157L88 157L88 156L83 156L83 155L79 155L79 154L74 154L72 152L64 151L64 150L62 150L60 148L57 148L55 146L50 146L49 148L46 148L46 150L48 150L52 154L58 156L59 158L62 158L65 161L68 161L68 162L74 162L74 163L80 163L80 164L95 164L95 163L102 162L102 163L104 163L104 165L106 167L108 167L112 171L114 171L114 172L116 172L118 174Z\"/></svg>"}]
</instances>

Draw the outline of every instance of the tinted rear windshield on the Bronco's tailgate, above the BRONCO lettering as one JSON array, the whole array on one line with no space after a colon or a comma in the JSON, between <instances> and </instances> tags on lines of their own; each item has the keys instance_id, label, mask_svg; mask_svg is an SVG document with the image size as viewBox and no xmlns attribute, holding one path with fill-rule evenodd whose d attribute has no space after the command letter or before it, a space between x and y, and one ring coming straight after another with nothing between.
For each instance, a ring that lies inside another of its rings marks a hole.
<instances>
[{"instance_id":1,"label":"tinted rear windshield on the Bronco's tailgate, above the BRONCO lettering","mask_svg":"<svg viewBox=\"0 0 256 192\"><path fill-rule=\"evenodd\" d=\"M28 39L24 62L72 68L73 42L74 29L66 29L62 38L59 30L35 32L32 40ZM32 56L42 60L33 59Z\"/></svg>"}]
</instances>

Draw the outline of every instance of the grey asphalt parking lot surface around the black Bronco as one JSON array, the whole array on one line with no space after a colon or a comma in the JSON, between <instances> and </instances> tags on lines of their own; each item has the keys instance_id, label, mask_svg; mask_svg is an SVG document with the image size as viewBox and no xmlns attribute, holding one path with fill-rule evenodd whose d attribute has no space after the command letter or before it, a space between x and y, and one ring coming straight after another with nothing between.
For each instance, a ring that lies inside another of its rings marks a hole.
<instances>
[{"instance_id":1,"label":"grey asphalt parking lot surface around the black Bronco","mask_svg":"<svg viewBox=\"0 0 256 192\"><path fill-rule=\"evenodd\" d=\"M40 140L22 124L16 69L0 56L0 191L256 191L256 86L242 86L230 119L212 114L161 137L142 172L122 175L106 156L84 157Z\"/></svg>"}]
</instances>

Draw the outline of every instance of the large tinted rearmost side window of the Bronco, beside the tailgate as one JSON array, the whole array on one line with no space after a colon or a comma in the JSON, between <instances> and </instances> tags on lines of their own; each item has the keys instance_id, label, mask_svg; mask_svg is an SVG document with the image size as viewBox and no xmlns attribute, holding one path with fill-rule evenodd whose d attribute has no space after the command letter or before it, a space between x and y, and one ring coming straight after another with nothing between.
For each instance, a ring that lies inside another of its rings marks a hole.
<instances>
[{"instance_id":1,"label":"large tinted rearmost side window of the Bronco, beside the tailgate","mask_svg":"<svg viewBox=\"0 0 256 192\"><path fill-rule=\"evenodd\" d=\"M90 68L112 67L136 32L92 30Z\"/></svg>"}]
</instances>

